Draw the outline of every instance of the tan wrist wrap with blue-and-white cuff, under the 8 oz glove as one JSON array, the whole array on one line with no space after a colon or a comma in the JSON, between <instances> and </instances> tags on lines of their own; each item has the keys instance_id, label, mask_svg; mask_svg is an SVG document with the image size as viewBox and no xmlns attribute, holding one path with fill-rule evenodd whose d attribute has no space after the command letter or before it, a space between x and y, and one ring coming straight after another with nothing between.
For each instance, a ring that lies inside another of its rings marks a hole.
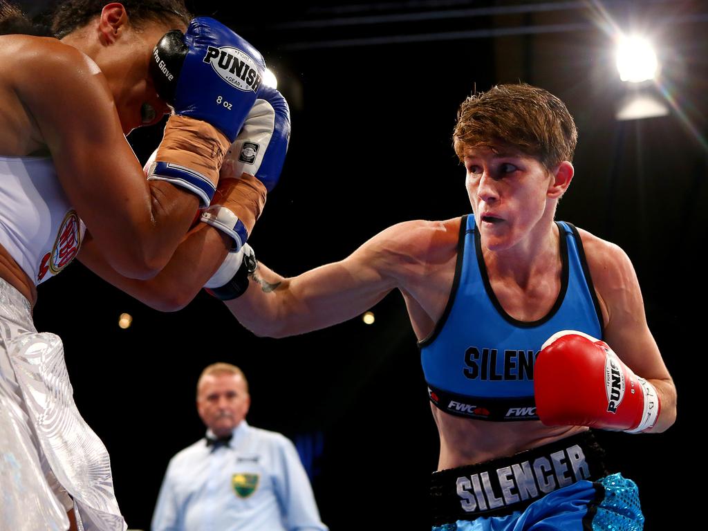
<instances>
[{"instance_id":1,"label":"tan wrist wrap with blue-and-white cuff, under the 8 oz glove","mask_svg":"<svg viewBox=\"0 0 708 531\"><path fill-rule=\"evenodd\" d=\"M229 139L207 122L172 115L147 179L186 188L198 195L202 207L207 207L214 197L229 147Z\"/></svg>"}]
</instances>

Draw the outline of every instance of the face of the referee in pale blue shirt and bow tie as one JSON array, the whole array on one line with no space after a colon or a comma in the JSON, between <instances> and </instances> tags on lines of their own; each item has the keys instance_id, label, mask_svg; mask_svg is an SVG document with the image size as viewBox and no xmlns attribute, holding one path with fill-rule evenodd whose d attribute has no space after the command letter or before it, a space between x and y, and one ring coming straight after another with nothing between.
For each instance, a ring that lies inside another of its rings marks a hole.
<instances>
[{"instance_id":1,"label":"face of the referee in pale blue shirt and bow tie","mask_svg":"<svg viewBox=\"0 0 708 531\"><path fill-rule=\"evenodd\" d=\"M207 375L199 384L199 416L217 437L231 433L244 420L250 405L251 397L241 375Z\"/></svg>"}]
</instances>

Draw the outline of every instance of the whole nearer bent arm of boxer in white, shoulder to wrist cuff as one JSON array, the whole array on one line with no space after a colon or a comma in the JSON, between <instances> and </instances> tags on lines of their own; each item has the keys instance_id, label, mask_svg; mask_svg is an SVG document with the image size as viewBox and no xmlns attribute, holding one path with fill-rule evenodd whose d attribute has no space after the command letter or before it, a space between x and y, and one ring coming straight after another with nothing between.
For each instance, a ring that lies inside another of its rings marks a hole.
<instances>
[{"instance_id":1,"label":"whole nearer bent arm of boxer in white, shoulder to wrist cuff","mask_svg":"<svg viewBox=\"0 0 708 531\"><path fill-rule=\"evenodd\" d=\"M108 82L91 59L47 40L37 58L13 73L52 154L69 201L108 263L122 275L149 278L188 231L198 198L166 182L147 183L127 143ZM37 72L43 79L38 81Z\"/></svg>"}]
</instances>

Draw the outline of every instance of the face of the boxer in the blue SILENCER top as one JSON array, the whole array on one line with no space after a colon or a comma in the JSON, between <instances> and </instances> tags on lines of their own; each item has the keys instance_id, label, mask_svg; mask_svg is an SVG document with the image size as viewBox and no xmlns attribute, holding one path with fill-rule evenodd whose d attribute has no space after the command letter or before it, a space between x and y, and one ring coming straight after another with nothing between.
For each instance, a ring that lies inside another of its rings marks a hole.
<instances>
[{"instance_id":1,"label":"face of the boxer in the blue SILENCER top","mask_svg":"<svg viewBox=\"0 0 708 531\"><path fill-rule=\"evenodd\" d=\"M535 157L514 149L464 151L465 185L481 241L490 251L510 249L539 226L548 208L552 174Z\"/></svg>"}]
</instances>

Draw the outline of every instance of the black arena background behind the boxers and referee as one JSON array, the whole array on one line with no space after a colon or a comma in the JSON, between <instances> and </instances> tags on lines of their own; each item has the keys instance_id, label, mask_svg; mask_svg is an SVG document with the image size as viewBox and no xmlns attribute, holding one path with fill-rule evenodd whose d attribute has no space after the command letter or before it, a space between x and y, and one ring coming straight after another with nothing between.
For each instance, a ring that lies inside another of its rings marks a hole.
<instances>
[{"instance_id":1,"label":"black arena background behind the boxers and referee","mask_svg":"<svg viewBox=\"0 0 708 531\"><path fill-rule=\"evenodd\" d=\"M258 47L290 102L282 181L250 240L283 275L341 259L396 222L469 212L451 132L457 105L475 87L525 81L566 102L580 137L558 218L632 258L680 397L678 421L663 435L599 437L612 467L639 484L646 529L671 526L677 513L690 521L702 489L681 478L693 483L705 471L696 433L704 351L694 336L706 291L708 2L191 8ZM650 89L663 94L670 115L615 120L627 87L614 65L613 25L653 36L663 69ZM139 158L159 135L155 127L130 136ZM429 529L423 515L437 432L398 293L377 304L372 326L352 319L273 340L254 337L205 294L161 314L78 263L39 290L36 324L64 340L76 403L108 447L130 527L149 528L168 460L203 435L196 380L223 360L249 377L249 422L285 433L306 456L332 530ZM118 328L122 312L134 317L130 329Z\"/></svg>"}]
</instances>

